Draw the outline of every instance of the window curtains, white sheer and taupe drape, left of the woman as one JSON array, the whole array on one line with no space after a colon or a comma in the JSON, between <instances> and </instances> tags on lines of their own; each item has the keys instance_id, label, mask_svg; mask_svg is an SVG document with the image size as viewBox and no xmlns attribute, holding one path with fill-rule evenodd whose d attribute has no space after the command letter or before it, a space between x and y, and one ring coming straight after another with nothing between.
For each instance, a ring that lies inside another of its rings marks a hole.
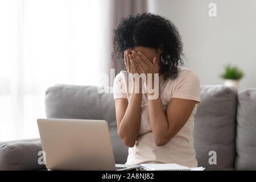
<instances>
[{"instance_id":1,"label":"window curtains, white sheer and taupe drape, left of the woman","mask_svg":"<svg viewBox=\"0 0 256 182\"><path fill-rule=\"evenodd\" d=\"M146 0L0 0L0 142L39 137L49 86L98 85L118 68L113 28L145 10Z\"/></svg>"}]
</instances>

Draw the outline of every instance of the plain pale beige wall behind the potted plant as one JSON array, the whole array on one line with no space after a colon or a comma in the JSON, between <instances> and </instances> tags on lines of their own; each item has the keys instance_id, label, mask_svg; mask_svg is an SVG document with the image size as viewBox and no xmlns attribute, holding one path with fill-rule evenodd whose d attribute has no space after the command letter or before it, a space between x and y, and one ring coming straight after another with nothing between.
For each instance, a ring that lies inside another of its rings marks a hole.
<instances>
[{"instance_id":1,"label":"plain pale beige wall behind the potted plant","mask_svg":"<svg viewBox=\"0 0 256 182\"><path fill-rule=\"evenodd\" d=\"M217 17L208 15L216 3ZM148 0L150 13L172 20L180 31L187 57L185 67L194 69L201 85L222 84L223 65L236 64L246 76L240 91L256 88L255 0Z\"/></svg>"}]
</instances>

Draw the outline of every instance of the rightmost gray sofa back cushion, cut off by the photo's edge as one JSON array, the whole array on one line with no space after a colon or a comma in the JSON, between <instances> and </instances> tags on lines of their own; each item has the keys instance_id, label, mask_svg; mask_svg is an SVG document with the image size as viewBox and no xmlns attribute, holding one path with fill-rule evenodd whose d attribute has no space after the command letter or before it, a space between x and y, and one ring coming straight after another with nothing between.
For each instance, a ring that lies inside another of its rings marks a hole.
<instances>
[{"instance_id":1,"label":"rightmost gray sofa back cushion, cut off by the photo's edge","mask_svg":"<svg viewBox=\"0 0 256 182\"><path fill-rule=\"evenodd\" d=\"M246 89L238 94L237 170L256 170L256 89Z\"/></svg>"}]
</instances>

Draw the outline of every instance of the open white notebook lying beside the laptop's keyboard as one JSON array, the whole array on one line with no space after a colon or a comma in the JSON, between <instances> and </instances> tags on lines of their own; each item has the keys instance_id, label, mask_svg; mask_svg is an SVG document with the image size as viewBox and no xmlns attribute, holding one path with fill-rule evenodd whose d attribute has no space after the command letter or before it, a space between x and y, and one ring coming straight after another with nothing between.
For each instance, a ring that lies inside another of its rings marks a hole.
<instances>
[{"instance_id":1,"label":"open white notebook lying beside the laptop's keyboard","mask_svg":"<svg viewBox=\"0 0 256 182\"><path fill-rule=\"evenodd\" d=\"M147 171L190 171L189 167L179 164L141 164L141 167Z\"/></svg>"}]
</instances>

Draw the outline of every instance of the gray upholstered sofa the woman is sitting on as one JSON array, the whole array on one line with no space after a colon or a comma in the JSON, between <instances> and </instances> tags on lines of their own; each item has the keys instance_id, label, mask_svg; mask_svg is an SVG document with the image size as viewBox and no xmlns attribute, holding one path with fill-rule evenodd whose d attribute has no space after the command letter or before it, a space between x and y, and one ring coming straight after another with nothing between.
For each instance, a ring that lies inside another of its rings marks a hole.
<instances>
[{"instance_id":1,"label":"gray upholstered sofa the woman is sitting on","mask_svg":"<svg viewBox=\"0 0 256 182\"><path fill-rule=\"evenodd\" d=\"M115 162L126 162L128 148L117 134L112 93L100 94L96 86L57 84L46 90L45 103L47 118L108 121ZM232 87L201 86L194 130L199 166L208 170L256 170L255 140L256 89L238 94ZM38 163L39 151L39 138L1 142L0 170L46 169Z\"/></svg>"}]
</instances>

